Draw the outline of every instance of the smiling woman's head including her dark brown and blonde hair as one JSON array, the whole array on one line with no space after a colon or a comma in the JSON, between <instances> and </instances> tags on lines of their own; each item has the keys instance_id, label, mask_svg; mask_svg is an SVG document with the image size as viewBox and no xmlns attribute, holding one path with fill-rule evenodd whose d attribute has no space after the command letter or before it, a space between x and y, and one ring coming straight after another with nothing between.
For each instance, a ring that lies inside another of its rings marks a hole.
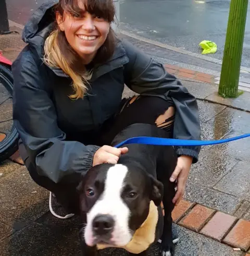
<instances>
[{"instance_id":1,"label":"smiling woman's head including her dark brown and blonde hair","mask_svg":"<svg viewBox=\"0 0 250 256\"><path fill-rule=\"evenodd\" d=\"M93 59L95 64L101 63L114 53L115 34L110 23L115 7L113 0L61 0L55 11L57 25L45 41L44 60L72 78L75 93L71 97L79 99L91 78L84 65Z\"/></svg>"}]
</instances>

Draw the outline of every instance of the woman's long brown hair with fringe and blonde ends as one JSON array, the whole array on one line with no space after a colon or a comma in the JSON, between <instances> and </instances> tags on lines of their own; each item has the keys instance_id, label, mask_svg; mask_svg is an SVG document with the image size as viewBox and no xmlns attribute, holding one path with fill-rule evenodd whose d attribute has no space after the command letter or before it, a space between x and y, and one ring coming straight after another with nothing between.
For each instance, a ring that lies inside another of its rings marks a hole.
<instances>
[{"instance_id":1,"label":"woman's long brown hair with fringe and blonde ends","mask_svg":"<svg viewBox=\"0 0 250 256\"><path fill-rule=\"evenodd\" d=\"M109 23L114 21L115 7L113 0L83 0L85 10L90 14L103 17ZM59 0L55 7L55 13L58 12L62 17L65 13L79 15L81 8L78 0ZM106 62L115 50L115 32L110 28L107 39L99 48L94 57L94 64ZM80 56L73 50L68 43L65 33L56 29L48 36L44 45L44 62L51 67L60 68L72 79L74 94L71 99L83 98L91 78L91 71L87 71L82 64Z\"/></svg>"}]
</instances>

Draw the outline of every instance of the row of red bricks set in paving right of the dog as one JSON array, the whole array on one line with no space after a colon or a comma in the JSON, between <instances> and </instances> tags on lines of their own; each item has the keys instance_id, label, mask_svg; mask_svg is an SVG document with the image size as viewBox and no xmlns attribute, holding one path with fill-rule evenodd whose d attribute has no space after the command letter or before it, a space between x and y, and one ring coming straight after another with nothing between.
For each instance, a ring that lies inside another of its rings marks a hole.
<instances>
[{"instance_id":1,"label":"row of red bricks set in paving right of the dog","mask_svg":"<svg viewBox=\"0 0 250 256\"><path fill-rule=\"evenodd\" d=\"M240 248L244 252L250 249L249 221L186 200L174 208L172 219L180 226L233 248Z\"/></svg>"}]
</instances>

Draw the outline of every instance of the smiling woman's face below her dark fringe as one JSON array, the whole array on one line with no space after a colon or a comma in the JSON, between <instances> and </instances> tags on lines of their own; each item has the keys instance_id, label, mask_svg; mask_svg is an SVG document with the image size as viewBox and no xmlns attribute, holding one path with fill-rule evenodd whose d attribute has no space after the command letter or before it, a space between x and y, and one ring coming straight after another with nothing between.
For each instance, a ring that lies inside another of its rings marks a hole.
<instances>
[{"instance_id":1,"label":"smiling woman's face below her dark fringe","mask_svg":"<svg viewBox=\"0 0 250 256\"><path fill-rule=\"evenodd\" d=\"M73 50L88 64L105 42L110 24L102 17L85 11L82 1L79 1L79 7L82 9L79 17L68 13L62 17L57 13L56 19L60 30L65 32L67 41Z\"/></svg>"}]
</instances>

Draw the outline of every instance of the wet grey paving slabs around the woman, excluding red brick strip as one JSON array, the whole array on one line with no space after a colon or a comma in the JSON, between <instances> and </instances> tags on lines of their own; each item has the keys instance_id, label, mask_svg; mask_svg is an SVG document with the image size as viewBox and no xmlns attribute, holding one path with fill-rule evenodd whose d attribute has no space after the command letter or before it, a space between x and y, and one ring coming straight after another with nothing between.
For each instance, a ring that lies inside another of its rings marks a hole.
<instances>
[{"instance_id":1,"label":"wet grey paving slabs around the woman, excluding red brick strip","mask_svg":"<svg viewBox=\"0 0 250 256\"><path fill-rule=\"evenodd\" d=\"M15 42L14 47L7 48L4 54L15 59L22 43L20 39L9 42ZM149 50L154 58L159 58L158 49L151 47ZM250 131L250 93L224 100L217 96L215 84L192 79L182 82L198 99L203 140ZM126 89L124 95L131 95L131 91ZM6 107L1 114L9 111ZM249 139L203 147L199 162L192 166L184 198L250 221L249 151ZM78 224L77 217L59 220L48 212L48 192L33 182L26 167L11 161L0 164L1 256L80 256ZM194 231L178 225L177 228L181 240L176 256L244 255ZM106 250L101 255L127 253ZM157 246L151 255L158 255Z\"/></svg>"}]
</instances>

